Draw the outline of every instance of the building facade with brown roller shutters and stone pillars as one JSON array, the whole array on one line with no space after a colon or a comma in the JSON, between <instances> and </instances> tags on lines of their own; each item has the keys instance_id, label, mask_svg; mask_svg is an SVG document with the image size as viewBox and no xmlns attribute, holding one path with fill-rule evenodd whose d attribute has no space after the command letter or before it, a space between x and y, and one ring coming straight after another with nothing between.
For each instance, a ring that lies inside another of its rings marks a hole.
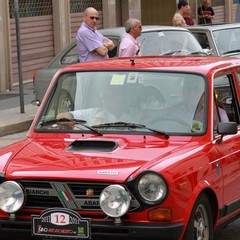
<instances>
[{"instance_id":1,"label":"building facade with brown roller shutters and stone pillars","mask_svg":"<svg viewBox=\"0 0 240 240\"><path fill-rule=\"evenodd\" d=\"M0 0L0 92L18 85L19 67L23 81L32 81L34 71L44 67L75 38L86 7L99 11L98 28L122 26L129 17L141 19L144 25L172 25L177 1ZM212 0L214 23L235 22L237 2ZM201 0L189 0L189 4L196 22Z\"/></svg>"}]
</instances>

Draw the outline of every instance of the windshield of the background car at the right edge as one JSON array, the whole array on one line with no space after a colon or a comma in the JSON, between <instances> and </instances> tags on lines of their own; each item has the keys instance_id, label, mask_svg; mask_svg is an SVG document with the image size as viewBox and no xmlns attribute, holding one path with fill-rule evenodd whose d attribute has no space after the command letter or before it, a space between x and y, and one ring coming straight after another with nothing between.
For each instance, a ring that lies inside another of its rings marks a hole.
<instances>
[{"instance_id":1,"label":"windshield of the background car at the right edge","mask_svg":"<svg viewBox=\"0 0 240 240\"><path fill-rule=\"evenodd\" d=\"M220 55L240 53L240 28L217 30L213 37Z\"/></svg>"}]
</instances>

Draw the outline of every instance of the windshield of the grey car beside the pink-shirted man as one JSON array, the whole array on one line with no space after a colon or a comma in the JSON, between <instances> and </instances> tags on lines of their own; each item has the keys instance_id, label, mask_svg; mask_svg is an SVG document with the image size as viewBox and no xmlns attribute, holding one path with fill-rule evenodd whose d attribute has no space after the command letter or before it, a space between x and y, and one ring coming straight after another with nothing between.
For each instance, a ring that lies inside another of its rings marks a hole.
<instances>
[{"instance_id":1,"label":"windshield of the grey car beside the pink-shirted man","mask_svg":"<svg viewBox=\"0 0 240 240\"><path fill-rule=\"evenodd\" d=\"M137 40L141 55L186 55L203 52L196 38L187 31L143 32Z\"/></svg>"}]
</instances>

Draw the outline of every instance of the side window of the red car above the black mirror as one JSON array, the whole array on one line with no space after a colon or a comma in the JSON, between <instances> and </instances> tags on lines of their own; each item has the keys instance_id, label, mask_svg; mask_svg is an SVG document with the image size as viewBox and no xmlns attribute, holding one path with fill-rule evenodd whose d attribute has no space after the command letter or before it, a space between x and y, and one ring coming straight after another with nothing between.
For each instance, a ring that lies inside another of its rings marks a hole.
<instances>
[{"instance_id":1,"label":"side window of the red car above the black mirror","mask_svg":"<svg viewBox=\"0 0 240 240\"><path fill-rule=\"evenodd\" d=\"M218 122L239 124L239 104L231 74L214 79L214 127Z\"/></svg>"}]
</instances>

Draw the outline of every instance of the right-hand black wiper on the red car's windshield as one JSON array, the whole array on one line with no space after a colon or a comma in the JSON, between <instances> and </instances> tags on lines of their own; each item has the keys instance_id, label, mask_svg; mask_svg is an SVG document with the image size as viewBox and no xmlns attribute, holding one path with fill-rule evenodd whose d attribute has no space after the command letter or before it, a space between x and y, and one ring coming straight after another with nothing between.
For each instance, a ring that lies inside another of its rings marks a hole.
<instances>
[{"instance_id":1,"label":"right-hand black wiper on the red car's windshield","mask_svg":"<svg viewBox=\"0 0 240 240\"><path fill-rule=\"evenodd\" d=\"M141 128L141 129L147 129L149 131L155 132L157 134L160 135L164 135L164 137L166 139L169 138L169 135L167 133L165 133L164 131L159 131L156 129L152 129L152 128L148 128L143 124L136 124L136 123L128 123L128 122L113 122L113 123L103 123L103 124L98 124L98 125L94 125L92 126L93 128L124 128L124 127L128 127L128 128Z\"/></svg>"}]
</instances>

